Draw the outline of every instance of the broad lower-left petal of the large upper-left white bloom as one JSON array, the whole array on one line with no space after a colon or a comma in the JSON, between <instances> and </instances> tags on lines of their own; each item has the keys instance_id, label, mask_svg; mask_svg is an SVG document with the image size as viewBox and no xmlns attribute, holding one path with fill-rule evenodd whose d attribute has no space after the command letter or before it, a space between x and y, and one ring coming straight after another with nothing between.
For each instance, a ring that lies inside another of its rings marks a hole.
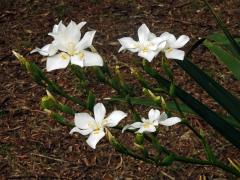
<instances>
[{"instance_id":1,"label":"broad lower-left petal of the large upper-left white bloom","mask_svg":"<svg viewBox=\"0 0 240 180\"><path fill-rule=\"evenodd\" d=\"M64 69L68 66L69 62L70 56L66 53L59 53L55 56L50 56L47 58L47 71Z\"/></svg>"}]
</instances>

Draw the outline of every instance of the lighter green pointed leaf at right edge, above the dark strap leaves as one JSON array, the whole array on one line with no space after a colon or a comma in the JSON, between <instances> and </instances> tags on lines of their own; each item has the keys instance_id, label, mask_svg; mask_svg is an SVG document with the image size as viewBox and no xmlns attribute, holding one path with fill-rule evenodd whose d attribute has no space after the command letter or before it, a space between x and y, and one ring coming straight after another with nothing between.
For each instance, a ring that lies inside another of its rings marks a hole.
<instances>
[{"instance_id":1,"label":"lighter green pointed leaf at right edge, above the dark strap leaves","mask_svg":"<svg viewBox=\"0 0 240 180\"><path fill-rule=\"evenodd\" d=\"M210 41L205 41L204 45L240 80L240 61L236 57Z\"/></svg>"}]
</instances>

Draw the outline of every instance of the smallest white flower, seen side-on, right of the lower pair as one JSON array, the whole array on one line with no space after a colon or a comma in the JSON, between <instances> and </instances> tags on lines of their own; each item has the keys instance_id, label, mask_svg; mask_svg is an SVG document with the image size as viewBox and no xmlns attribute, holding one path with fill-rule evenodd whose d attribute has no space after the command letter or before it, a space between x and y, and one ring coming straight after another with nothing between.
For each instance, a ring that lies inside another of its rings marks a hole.
<instances>
[{"instance_id":1,"label":"smallest white flower, seen side-on, right of the lower pair","mask_svg":"<svg viewBox=\"0 0 240 180\"><path fill-rule=\"evenodd\" d=\"M167 118L167 114L163 112L160 114L159 110L151 109L148 112L148 119L141 118L142 122L135 122L130 125L126 125L122 132L126 129L139 129L136 133L143 133L143 132L155 132L156 127L161 124L164 126L172 126L181 121L178 117Z\"/></svg>"}]
</instances>

